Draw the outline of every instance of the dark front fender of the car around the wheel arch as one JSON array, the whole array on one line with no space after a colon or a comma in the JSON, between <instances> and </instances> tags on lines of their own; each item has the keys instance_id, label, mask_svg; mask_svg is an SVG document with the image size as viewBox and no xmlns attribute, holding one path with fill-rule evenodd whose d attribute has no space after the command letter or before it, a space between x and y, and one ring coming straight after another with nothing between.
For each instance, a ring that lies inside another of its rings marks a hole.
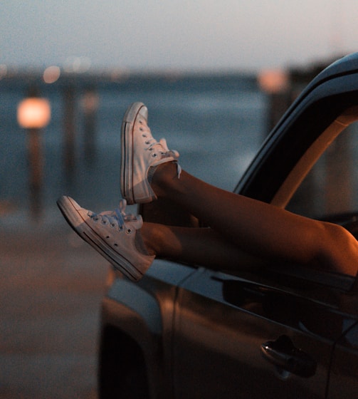
<instances>
[{"instance_id":1,"label":"dark front fender of the car around the wheel arch","mask_svg":"<svg viewBox=\"0 0 358 399\"><path fill-rule=\"evenodd\" d=\"M120 331L121 338L130 337L131 342L135 341L144 356L150 398L172 397L172 333L177 286L195 271L193 267L157 259L143 279L134 284L118 271L110 269L110 287L102 300L100 352L107 345L105 330L108 326ZM130 345L127 344L129 351ZM112 348L108 351L112 352ZM107 355L100 353L100 358L104 357ZM103 364L105 362L107 366ZM100 360L101 398L112 398L107 390L105 393L102 390L105 390L103 385L108 384L107 379L112 378L112 375L107 377L108 369L115 366L111 361ZM120 380L120 376L117 378ZM126 378L133 379L133 384L139 383L135 375ZM115 388L111 387L111 390L114 391L113 397L117 397Z\"/></svg>"}]
</instances>

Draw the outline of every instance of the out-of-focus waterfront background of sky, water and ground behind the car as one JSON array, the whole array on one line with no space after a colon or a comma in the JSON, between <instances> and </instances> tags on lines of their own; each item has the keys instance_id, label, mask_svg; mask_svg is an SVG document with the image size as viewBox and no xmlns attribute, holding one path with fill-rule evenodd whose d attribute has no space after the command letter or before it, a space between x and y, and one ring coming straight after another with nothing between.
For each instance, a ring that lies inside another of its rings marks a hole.
<instances>
[{"instance_id":1,"label":"out-of-focus waterfront background of sky, water and ground behind the car","mask_svg":"<svg viewBox=\"0 0 358 399\"><path fill-rule=\"evenodd\" d=\"M0 398L96 398L108 264L56 199L117 206L133 101L186 170L233 190L295 95L356 51L358 7L3 0L0 19Z\"/></svg>"}]
</instances>

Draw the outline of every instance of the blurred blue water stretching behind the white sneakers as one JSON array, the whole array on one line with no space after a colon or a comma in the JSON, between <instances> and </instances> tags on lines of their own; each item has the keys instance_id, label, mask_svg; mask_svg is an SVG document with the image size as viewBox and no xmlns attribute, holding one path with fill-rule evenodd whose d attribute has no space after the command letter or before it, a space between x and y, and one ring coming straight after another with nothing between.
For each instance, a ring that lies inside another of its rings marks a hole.
<instances>
[{"instance_id":1,"label":"blurred blue water stretching behind the white sneakers","mask_svg":"<svg viewBox=\"0 0 358 399\"><path fill-rule=\"evenodd\" d=\"M26 79L0 80L0 222L14 215L23 222L34 215L40 221L57 220L60 195L70 195L95 212L116 207L120 126L127 106L135 101L147 105L154 138L166 138L169 148L179 151L184 170L225 190L236 187L267 134L268 99L254 73L37 82L38 95L51 104L51 121L38 133L43 178L34 193L29 185L30 135L16 118L33 85ZM73 93L70 108L68 87ZM70 167L68 118L73 121Z\"/></svg>"}]
</instances>

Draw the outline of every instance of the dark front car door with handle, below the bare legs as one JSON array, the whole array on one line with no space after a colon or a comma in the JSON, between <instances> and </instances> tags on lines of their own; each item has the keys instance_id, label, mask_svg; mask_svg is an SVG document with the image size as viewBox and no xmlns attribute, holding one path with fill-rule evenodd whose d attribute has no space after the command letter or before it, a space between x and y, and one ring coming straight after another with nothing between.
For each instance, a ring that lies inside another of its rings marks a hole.
<instances>
[{"instance_id":1,"label":"dark front car door with handle, below the bare legs","mask_svg":"<svg viewBox=\"0 0 358 399\"><path fill-rule=\"evenodd\" d=\"M325 398L332 351L352 317L335 289L260 279L199 269L180 287L175 398Z\"/></svg>"}]
</instances>

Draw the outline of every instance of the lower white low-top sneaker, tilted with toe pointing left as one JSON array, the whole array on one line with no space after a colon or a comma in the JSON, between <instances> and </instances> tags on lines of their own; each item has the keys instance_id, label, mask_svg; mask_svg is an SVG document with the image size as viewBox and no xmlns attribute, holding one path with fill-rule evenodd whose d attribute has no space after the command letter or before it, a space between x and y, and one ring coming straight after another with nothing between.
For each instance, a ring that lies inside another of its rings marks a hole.
<instances>
[{"instance_id":1,"label":"lower white low-top sneaker, tilted with toe pointing left","mask_svg":"<svg viewBox=\"0 0 358 399\"><path fill-rule=\"evenodd\" d=\"M125 199L115 211L99 214L80 207L74 199L66 196L60 197L57 204L68 224L85 242L130 280L142 278L154 256L137 249L135 236L143 221L140 215L125 214Z\"/></svg>"}]
</instances>

